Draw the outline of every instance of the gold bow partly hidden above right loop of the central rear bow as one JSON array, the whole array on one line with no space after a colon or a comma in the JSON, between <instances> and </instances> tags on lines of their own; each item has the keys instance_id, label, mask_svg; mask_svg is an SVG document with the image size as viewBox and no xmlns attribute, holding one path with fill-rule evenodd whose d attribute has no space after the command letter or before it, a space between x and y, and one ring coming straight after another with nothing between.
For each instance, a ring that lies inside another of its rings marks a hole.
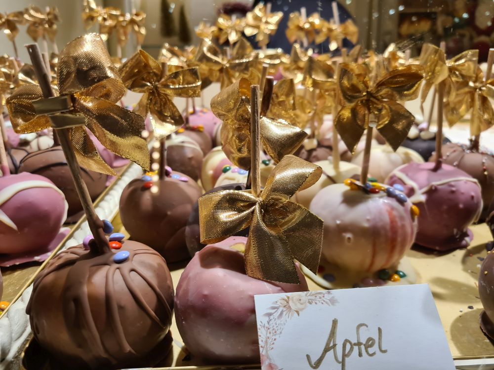
<instances>
[{"instance_id":1,"label":"gold bow partly hidden above right loop of the central rear bow","mask_svg":"<svg viewBox=\"0 0 494 370\"><path fill-rule=\"evenodd\" d=\"M278 81L273 87L273 95L266 115L284 119L303 130L314 113L314 107L308 99L297 95L295 91L293 79Z\"/></svg>"}]
</instances>

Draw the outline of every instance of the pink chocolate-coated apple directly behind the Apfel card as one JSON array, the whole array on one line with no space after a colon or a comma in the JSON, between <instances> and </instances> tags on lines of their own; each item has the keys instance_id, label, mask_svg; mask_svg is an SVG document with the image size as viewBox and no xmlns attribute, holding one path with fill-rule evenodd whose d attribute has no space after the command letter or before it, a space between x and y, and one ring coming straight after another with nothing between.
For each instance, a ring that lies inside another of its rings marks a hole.
<instances>
[{"instance_id":1,"label":"pink chocolate-coated apple directly behind the Apfel card","mask_svg":"<svg viewBox=\"0 0 494 370\"><path fill-rule=\"evenodd\" d=\"M232 236L206 246L180 277L175 318L193 356L216 363L259 363L254 295L308 291L300 270L300 285L247 276L244 255L230 248L246 242Z\"/></svg>"}]
</instances>

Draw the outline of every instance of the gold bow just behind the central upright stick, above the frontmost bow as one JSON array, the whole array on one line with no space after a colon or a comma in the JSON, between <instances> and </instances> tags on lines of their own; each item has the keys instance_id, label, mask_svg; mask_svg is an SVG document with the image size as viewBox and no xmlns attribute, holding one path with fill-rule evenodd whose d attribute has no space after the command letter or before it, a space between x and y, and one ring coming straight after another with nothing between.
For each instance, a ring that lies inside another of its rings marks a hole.
<instances>
[{"instance_id":1,"label":"gold bow just behind the central upright stick, above the frontmost bow","mask_svg":"<svg viewBox=\"0 0 494 370\"><path fill-rule=\"evenodd\" d=\"M250 168L250 81L241 78L211 100L211 111L223 121L221 142L228 159L243 169ZM283 119L261 116L261 143L278 163L302 144L307 134Z\"/></svg>"}]
</instances>

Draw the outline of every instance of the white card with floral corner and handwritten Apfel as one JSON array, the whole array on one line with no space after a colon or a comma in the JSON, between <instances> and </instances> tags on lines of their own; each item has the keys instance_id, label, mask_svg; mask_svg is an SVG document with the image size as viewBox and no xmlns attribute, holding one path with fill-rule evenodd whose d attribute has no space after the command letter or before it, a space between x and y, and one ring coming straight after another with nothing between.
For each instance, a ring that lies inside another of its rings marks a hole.
<instances>
[{"instance_id":1,"label":"white card with floral corner and handwritten Apfel","mask_svg":"<svg viewBox=\"0 0 494 370\"><path fill-rule=\"evenodd\" d=\"M262 370L453 370L429 286L254 296Z\"/></svg>"}]
</instances>

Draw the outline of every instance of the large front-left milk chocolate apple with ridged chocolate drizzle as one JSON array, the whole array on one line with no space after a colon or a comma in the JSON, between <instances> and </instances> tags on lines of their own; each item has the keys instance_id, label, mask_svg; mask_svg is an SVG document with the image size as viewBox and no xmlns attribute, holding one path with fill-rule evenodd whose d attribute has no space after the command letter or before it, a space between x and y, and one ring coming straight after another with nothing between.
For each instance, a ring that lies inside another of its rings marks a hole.
<instances>
[{"instance_id":1,"label":"large front-left milk chocolate apple with ridged chocolate drizzle","mask_svg":"<svg viewBox=\"0 0 494 370\"><path fill-rule=\"evenodd\" d=\"M127 260L116 263L116 253ZM35 338L62 369L153 366L171 325L173 283L148 246L124 241L93 255L82 245L52 259L34 282L27 307Z\"/></svg>"}]
</instances>

